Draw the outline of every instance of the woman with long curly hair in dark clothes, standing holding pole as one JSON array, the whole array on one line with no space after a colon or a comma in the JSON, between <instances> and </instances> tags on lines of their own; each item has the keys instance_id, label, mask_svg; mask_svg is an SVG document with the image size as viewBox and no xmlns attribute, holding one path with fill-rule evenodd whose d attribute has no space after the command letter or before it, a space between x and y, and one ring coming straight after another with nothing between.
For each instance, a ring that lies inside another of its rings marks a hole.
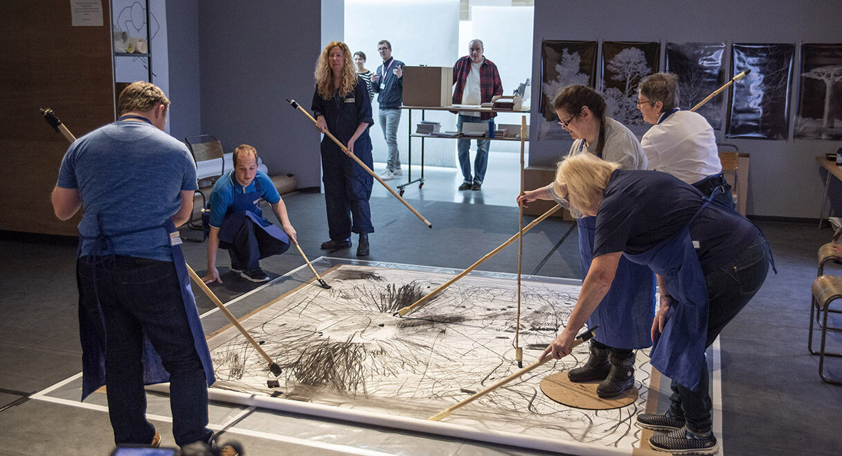
<instances>
[{"instance_id":1,"label":"woman with long curly hair in dark clothes, standing holding pole","mask_svg":"<svg viewBox=\"0 0 842 456\"><path fill-rule=\"evenodd\" d=\"M357 76L351 64L348 45L339 41L328 44L318 58L314 75L316 93L312 111L317 129L333 134L346 145L349 154L353 153L372 168L371 100L365 80ZM374 233L369 198L374 180L327 136L322 137L321 150L330 233L330 240L322 244L322 249L348 248L351 233L359 233L357 255L369 255L368 233Z\"/></svg>"}]
</instances>

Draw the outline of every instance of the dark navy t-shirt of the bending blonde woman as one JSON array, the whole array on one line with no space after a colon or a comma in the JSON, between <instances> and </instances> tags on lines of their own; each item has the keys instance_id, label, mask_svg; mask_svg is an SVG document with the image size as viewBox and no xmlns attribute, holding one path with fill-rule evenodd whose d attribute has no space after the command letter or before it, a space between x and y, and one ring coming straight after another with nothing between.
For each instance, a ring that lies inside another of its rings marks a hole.
<instances>
[{"instance_id":1,"label":"dark navy t-shirt of the bending blonde woman","mask_svg":"<svg viewBox=\"0 0 842 456\"><path fill-rule=\"evenodd\" d=\"M701 191L659 171L618 169L596 213L594 257L641 254L677 233L703 204ZM701 270L708 274L748 248L759 229L737 212L708 204L690 225Z\"/></svg>"}]
</instances>

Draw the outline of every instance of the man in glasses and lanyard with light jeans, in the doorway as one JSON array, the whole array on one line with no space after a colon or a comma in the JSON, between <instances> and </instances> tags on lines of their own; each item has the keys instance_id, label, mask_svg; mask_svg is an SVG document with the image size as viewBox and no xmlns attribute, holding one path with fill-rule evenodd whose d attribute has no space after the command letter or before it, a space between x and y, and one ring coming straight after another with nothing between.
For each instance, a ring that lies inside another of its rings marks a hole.
<instances>
[{"instance_id":1,"label":"man in glasses and lanyard with light jeans, in the doorway","mask_svg":"<svg viewBox=\"0 0 842 456\"><path fill-rule=\"evenodd\" d=\"M383 138L389 148L386 159L386 171L380 175L382 180L394 179L401 171L401 156L397 151L397 125L401 123L401 105L403 103L403 62L392 57L392 43L381 40L377 43L377 52L383 64L371 75L371 89L379 94L380 126Z\"/></svg>"}]
</instances>

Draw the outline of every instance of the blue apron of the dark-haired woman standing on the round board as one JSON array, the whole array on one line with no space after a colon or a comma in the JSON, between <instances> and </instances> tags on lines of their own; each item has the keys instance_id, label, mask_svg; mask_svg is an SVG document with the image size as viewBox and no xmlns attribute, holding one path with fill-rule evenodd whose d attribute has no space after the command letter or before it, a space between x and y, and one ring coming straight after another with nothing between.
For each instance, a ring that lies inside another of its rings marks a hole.
<instances>
[{"instance_id":1,"label":"blue apron of the dark-haired woman standing on the round board","mask_svg":"<svg viewBox=\"0 0 842 456\"><path fill-rule=\"evenodd\" d=\"M582 280L594 260L596 217L580 217L578 225L579 261ZM652 346L652 320L655 312L655 275L645 265L620 257L614 282L600 305L588 319L597 328L594 339L614 348L637 349Z\"/></svg>"}]
</instances>

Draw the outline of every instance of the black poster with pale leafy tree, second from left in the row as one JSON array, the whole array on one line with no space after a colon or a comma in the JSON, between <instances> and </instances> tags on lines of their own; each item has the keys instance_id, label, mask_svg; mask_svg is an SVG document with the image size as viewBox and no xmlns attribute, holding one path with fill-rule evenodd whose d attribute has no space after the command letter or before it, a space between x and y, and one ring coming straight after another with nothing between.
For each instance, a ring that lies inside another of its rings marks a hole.
<instances>
[{"instance_id":1,"label":"black poster with pale leafy tree, second from left in the row","mask_svg":"<svg viewBox=\"0 0 842 456\"><path fill-rule=\"evenodd\" d=\"M605 115L621 122L636 135L648 130L637 109L637 85L660 71L658 42L605 41L602 43L602 92Z\"/></svg>"}]
</instances>

